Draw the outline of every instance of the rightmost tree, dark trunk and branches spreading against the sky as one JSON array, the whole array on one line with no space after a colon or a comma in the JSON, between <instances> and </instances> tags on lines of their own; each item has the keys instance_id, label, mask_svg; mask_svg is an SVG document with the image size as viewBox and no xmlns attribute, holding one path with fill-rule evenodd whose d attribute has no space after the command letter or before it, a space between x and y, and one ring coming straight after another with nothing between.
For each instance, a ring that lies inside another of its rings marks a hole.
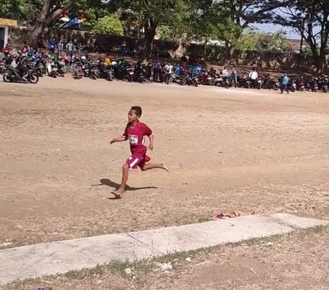
<instances>
[{"instance_id":1,"label":"rightmost tree, dark trunk and branches spreading against the sky","mask_svg":"<svg viewBox=\"0 0 329 290\"><path fill-rule=\"evenodd\" d=\"M312 51L317 73L321 73L328 53L328 0L298 0L294 5L282 9L280 14L276 14L274 21L293 27L300 33Z\"/></svg>"}]
</instances>

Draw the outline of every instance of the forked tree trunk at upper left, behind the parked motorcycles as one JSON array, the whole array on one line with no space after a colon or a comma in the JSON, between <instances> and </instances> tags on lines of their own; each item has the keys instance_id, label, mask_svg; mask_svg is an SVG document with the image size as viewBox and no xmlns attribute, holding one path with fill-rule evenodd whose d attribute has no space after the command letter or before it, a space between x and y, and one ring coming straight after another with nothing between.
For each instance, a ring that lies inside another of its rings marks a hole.
<instances>
[{"instance_id":1,"label":"forked tree trunk at upper left, behind the parked motorcycles","mask_svg":"<svg viewBox=\"0 0 329 290\"><path fill-rule=\"evenodd\" d=\"M30 38L30 44L36 47L45 27L52 25L64 12L68 11L77 0L43 0L40 1L40 13L36 19L34 29Z\"/></svg>"}]
</instances>

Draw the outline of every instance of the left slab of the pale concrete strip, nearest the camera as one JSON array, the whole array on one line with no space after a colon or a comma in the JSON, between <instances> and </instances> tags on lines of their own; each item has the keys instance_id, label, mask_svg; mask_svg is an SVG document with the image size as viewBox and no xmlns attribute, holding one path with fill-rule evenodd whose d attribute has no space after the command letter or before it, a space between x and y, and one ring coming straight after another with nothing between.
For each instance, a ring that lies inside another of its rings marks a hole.
<instances>
[{"instance_id":1,"label":"left slab of the pale concrete strip, nearest the camera","mask_svg":"<svg viewBox=\"0 0 329 290\"><path fill-rule=\"evenodd\" d=\"M26 245L0 251L0 285L16 279L64 274L110 261L135 261L159 254L127 234Z\"/></svg>"}]
</instances>

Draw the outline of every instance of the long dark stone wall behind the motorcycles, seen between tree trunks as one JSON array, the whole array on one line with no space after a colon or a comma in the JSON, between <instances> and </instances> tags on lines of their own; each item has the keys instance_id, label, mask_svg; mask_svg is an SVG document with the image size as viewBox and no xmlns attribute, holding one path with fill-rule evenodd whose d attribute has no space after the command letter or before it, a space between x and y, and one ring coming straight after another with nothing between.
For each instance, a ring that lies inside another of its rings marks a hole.
<instances>
[{"instance_id":1,"label":"long dark stone wall behind the motorcycles, seen between tree trunks","mask_svg":"<svg viewBox=\"0 0 329 290\"><path fill-rule=\"evenodd\" d=\"M32 33L33 27L10 27L9 39L12 45L20 46L23 40L28 40L29 35ZM112 36L112 35L99 35L92 32L77 31L71 29L45 29L43 38L56 38L66 41L73 40L84 45L93 41L98 46L103 45L106 50L111 51L114 47L119 47L123 40L127 45L133 46L136 51L141 48L141 40L128 38L125 36ZM191 44L188 47L179 45L178 43L154 40L154 47L158 50L169 51L172 58L180 58L183 53L193 58L204 56L204 46ZM216 62L216 64L223 65L225 63L225 51L223 47L208 46L206 48L206 55L208 60ZM313 57L312 56L299 56L298 53L280 53L272 51L234 51L232 63L245 66L257 66L264 69L298 69L303 71L312 71ZM329 71L328 60L325 65L325 71Z\"/></svg>"}]
</instances>

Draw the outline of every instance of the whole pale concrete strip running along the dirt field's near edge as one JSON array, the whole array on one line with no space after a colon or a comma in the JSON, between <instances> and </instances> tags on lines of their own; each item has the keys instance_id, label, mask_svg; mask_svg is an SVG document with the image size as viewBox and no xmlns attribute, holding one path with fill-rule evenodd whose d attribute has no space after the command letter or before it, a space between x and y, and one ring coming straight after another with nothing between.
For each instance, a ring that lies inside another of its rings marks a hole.
<instances>
[{"instance_id":1,"label":"whole pale concrete strip running along the dirt field's near edge","mask_svg":"<svg viewBox=\"0 0 329 290\"><path fill-rule=\"evenodd\" d=\"M12 280L63 274L110 261L134 261L256 237L285 234L329 221L287 214L249 215L206 223L73 239L0 250L0 285Z\"/></svg>"}]
</instances>

